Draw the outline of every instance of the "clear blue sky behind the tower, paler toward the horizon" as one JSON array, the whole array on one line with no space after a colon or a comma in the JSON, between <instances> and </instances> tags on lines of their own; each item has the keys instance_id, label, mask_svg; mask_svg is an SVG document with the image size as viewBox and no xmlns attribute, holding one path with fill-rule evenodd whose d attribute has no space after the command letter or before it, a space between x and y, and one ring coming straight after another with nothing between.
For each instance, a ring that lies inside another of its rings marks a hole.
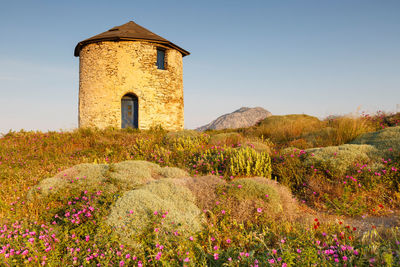
<instances>
[{"instance_id":1,"label":"clear blue sky behind the tower, paler toward the horizon","mask_svg":"<svg viewBox=\"0 0 400 267\"><path fill-rule=\"evenodd\" d=\"M77 126L75 45L129 20L191 52L185 127L242 106L319 117L400 104L400 1L3 1L0 132Z\"/></svg>"}]
</instances>

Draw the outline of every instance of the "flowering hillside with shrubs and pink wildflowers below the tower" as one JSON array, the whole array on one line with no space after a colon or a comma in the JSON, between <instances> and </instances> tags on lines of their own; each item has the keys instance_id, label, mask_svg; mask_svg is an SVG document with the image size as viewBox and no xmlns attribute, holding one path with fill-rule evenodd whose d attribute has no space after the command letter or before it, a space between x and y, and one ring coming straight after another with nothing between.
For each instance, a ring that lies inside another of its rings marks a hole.
<instances>
[{"instance_id":1,"label":"flowering hillside with shrubs and pink wildflowers below the tower","mask_svg":"<svg viewBox=\"0 0 400 267\"><path fill-rule=\"evenodd\" d=\"M0 263L398 265L399 143L386 117L10 132Z\"/></svg>"}]
</instances>

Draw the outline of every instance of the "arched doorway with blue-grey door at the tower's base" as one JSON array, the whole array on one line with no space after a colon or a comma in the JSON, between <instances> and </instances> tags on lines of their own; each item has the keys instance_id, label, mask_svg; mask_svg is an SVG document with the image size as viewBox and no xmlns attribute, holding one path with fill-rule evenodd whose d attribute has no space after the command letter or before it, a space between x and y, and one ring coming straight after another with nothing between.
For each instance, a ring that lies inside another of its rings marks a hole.
<instances>
[{"instance_id":1,"label":"arched doorway with blue-grey door at the tower's base","mask_svg":"<svg viewBox=\"0 0 400 267\"><path fill-rule=\"evenodd\" d=\"M121 99L121 128L138 128L139 103L134 94L126 94Z\"/></svg>"}]
</instances>

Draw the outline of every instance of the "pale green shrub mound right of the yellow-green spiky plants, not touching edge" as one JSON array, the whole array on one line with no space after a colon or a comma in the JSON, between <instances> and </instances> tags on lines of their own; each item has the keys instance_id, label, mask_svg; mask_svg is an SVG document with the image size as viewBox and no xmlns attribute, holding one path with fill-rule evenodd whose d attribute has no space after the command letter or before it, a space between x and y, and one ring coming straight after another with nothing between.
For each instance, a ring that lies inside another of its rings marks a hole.
<instances>
[{"instance_id":1,"label":"pale green shrub mound right of the yellow-green spiky plants, not touching edge","mask_svg":"<svg viewBox=\"0 0 400 267\"><path fill-rule=\"evenodd\" d=\"M307 149L304 162L308 167L320 171L329 171L335 175L344 175L355 164L369 163L377 153L370 145L341 145Z\"/></svg>"}]
</instances>

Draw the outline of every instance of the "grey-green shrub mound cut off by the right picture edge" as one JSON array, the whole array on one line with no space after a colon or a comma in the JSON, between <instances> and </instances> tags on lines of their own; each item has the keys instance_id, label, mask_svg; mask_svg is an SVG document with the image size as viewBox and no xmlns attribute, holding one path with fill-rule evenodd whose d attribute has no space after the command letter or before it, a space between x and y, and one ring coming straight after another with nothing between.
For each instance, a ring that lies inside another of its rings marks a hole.
<instances>
[{"instance_id":1,"label":"grey-green shrub mound cut off by the right picture edge","mask_svg":"<svg viewBox=\"0 0 400 267\"><path fill-rule=\"evenodd\" d=\"M353 140L351 144L371 145L378 149L383 157L399 157L400 126L363 134Z\"/></svg>"}]
</instances>

